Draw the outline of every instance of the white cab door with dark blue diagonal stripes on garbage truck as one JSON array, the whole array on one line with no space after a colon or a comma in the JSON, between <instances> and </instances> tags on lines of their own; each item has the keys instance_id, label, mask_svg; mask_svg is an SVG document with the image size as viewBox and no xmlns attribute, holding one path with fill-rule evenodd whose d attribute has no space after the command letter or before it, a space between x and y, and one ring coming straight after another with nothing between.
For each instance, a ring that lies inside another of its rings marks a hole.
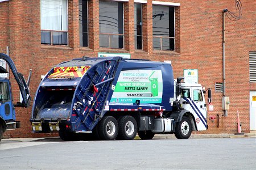
<instances>
[{"instance_id":1,"label":"white cab door with dark blue diagonal stripes on garbage truck","mask_svg":"<svg viewBox=\"0 0 256 170\"><path fill-rule=\"evenodd\" d=\"M198 87L192 87L191 98L193 99L193 103L196 105L195 110L198 116L196 118L197 128L199 128L199 126L202 126L201 128L207 129L207 107L205 105L203 91Z\"/></svg>"}]
</instances>

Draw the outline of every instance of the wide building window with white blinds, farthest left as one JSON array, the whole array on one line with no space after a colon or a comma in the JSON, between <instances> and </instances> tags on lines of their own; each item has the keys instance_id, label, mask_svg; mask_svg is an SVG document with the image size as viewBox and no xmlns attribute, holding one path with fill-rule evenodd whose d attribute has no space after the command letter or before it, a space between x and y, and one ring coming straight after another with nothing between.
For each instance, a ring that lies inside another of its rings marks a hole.
<instances>
[{"instance_id":1,"label":"wide building window with white blinds, farthest left","mask_svg":"<svg viewBox=\"0 0 256 170\"><path fill-rule=\"evenodd\" d=\"M41 44L68 45L68 0L41 0Z\"/></svg>"}]
</instances>

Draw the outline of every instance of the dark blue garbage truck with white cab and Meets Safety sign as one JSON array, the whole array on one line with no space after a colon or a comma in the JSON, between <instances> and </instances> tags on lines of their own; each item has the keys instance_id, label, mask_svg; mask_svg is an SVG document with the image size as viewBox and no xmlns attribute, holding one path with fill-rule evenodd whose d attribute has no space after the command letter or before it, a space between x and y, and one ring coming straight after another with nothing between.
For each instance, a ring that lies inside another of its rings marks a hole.
<instances>
[{"instance_id":1,"label":"dark blue garbage truck with white cab and Meets Safety sign","mask_svg":"<svg viewBox=\"0 0 256 170\"><path fill-rule=\"evenodd\" d=\"M187 139L193 130L208 129L207 103L201 84L183 79L174 79L170 63L146 59L82 57L62 62L39 84L32 130L59 131L64 141L85 133L101 140L129 140L137 133L141 139L155 134Z\"/></svg>"}]
</instances>

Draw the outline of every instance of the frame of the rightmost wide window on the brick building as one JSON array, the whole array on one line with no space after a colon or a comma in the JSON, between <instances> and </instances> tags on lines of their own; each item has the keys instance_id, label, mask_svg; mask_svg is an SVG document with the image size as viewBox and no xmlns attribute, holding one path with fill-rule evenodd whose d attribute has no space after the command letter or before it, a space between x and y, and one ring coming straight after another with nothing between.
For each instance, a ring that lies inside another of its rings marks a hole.
<instances>
[{"instance_id":1,"label":"frame of the rightmost wide window on the brick building","mask_svg":"<svg viewBox=\"0 0 256 170\"><path fill-rule=\"evenodd\" d=\"M176 20L175 20L175 7L176 6L170 6L170 5L162 5L162 4L158 4L158 3L153 3L152 6L164 6L164 7L174 7L174 37L167 37L167 36L154 36L154 34L152 33L152 48L153 50L155 51L172 51L172 52L175 52L176 50L176 43L175 43L175 40L176 40L176 27L175 27L175 23L176 23ZM153 7L152 7L153 8ZM170 14L169 14L170 16ZM170 20L170 18L169 18ZM153 21L153 19L152 19ZM170 22L170 21L169 21ZM169 27L170 29L170 27ZM152 25L152 31L153 31L153 25ZM154 38L159 38L160 39L160 49L154 49ZM174 39L174 50L163 50L163 39Z\"/></svg>"}]
</instances>

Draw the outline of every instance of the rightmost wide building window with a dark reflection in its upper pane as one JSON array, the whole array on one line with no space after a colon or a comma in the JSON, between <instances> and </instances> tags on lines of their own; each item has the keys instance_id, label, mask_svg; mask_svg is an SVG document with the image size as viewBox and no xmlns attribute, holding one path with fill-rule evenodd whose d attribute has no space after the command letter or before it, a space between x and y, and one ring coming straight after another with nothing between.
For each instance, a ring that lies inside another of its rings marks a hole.
<instances>
[{"instance_id":1,"label":"rightmost wide building window with a dark reflection in its upper pane","mask_svg":"<svg viewBox=\"0 0 256 170\"><path fill-rule=\"evenodd\" d=\"M153 48L175 50L174 7L153 5Z\"/></svg>"}]
</instances>

